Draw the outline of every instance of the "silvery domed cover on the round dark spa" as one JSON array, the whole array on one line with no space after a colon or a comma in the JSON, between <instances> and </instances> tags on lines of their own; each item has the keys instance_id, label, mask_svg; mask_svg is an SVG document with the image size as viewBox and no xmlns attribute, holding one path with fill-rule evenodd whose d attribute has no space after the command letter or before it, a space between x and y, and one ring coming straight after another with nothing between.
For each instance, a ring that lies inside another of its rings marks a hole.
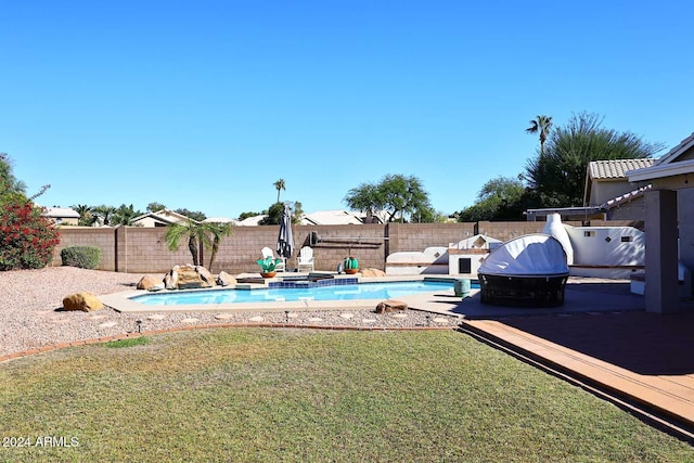
<instances>
[{"instance_id":1,"label":"silvery domed cover on the round dark spa","mask_svg":"<svg viewBox=\"0 0 694 463\"><path fill-rule=\"evenodd\" d=\"M509 276L568 275L562 244L543 233L515 237L492 250L477 273Z\"/></svg>"}]
</instances>

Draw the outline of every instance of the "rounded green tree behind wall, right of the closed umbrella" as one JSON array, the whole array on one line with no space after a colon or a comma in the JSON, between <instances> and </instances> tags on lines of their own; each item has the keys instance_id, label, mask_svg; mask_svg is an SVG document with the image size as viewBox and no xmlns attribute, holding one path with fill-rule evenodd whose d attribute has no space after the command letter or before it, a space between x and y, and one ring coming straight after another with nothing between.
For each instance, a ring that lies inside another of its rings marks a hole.
<instances>
[{"instance_id":1,"label":"rounded green tree behind wall, right of the closed umbrella","mask_svg":"<svg viewBox=\"0 0 694 463\"><path fill-rule=\"evenodd\" d=\"M348 207L367 214L386 211L388 222L396 218L404 221L406 216L412 220L417 211L420 218L429 217L423 213L432 208L422 181L401 175L387 175L378 183L362 183L349 190L344 201Z\"/></svg>"}]
</instances>

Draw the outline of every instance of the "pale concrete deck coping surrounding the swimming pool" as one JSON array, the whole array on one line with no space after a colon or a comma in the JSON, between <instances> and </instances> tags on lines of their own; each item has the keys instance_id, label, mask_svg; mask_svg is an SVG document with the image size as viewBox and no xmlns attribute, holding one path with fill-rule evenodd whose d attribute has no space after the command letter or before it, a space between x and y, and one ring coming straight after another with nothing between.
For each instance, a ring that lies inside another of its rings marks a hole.
<instances>
[{"instance_id":1,"label":"pale concrete deck coping surrounding the swimming pool","mask_svg":"<svg viewBox=\"0 0 694 463\"><path fill-rule=\"evenodd\" d=\"M354 278L354 275L350 275ZM407 281L455 281L461 276L448 276L448 275L398 275L398 276L360 276L359 283L385 283L385 282L407 282ZM473 278L468 278L475 280ZM232 287L233 286L233 287ZM196 290L162 290L155 294L167 293L180 293L185 292L202 292L202 291L229 291L229 290L243 290L254 291L267 288L268 285L259 283L240 283L229 286L214 286ZM446 294L441 294L446 293ZM285 312L285 311L319 311L319 310L345 310L345 309L373 309L376 305L385 299L339 299L339 300L300 300L300 301L270 301L270 303L220 303L220 304L189 304L189 305L170 305L170 306L147 306L140 304L132 299L136 296L142 296L150 294L145 290L130 290L119 293L112 293L107 295L99 296L99 299L106 306L113 308L118 312L124 313L152 313L152 312ZM435 292L419 293L411 296L399 297L398 300L402 300L408 304L410 308L419 305L422 298L430 300L437 296L444 296L449 299L454 297L453 290L440 290ZM426 310L425 308L421 308Z\"/></svg>"}]
</instances>

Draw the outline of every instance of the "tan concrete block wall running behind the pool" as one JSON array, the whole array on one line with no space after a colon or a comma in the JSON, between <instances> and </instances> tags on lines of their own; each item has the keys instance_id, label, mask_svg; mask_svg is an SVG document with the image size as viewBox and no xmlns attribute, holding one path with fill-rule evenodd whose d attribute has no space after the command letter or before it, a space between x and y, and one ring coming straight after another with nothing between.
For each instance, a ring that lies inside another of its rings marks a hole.
<instances>
[{"instance_id":1,"label":"tan concrete block wall running behind the pool","mask_svg":"<svg viewBox=\"0 0 694 463\"><path fill-rule=\"evenodd\" d=\"M579 227L580 222L565 222ZM632 226L632 221L591 221L593 227ZM293 226L295 253L287 267L296 267L296 255L303 246L313 248L316 270L335 270L351 255L359 267L385 270L389 254L424 250L429 246L448 246L474 234L486 234L501 241L542 231L544 222L466 222L466 223L388 223L364 226ZM277 246L279 226L235 227L231 236L219 246L214 273L257 272L260 249ZM61 243L53 252L51 266L61 266L61 249L68 246L97 246L102 257L99 270L126 273L164 273L176 265L192 263L188 242L178 250L168 250L165 228L61 227ZM209 249L202 249L205 267L209 268Z\"/></svg>"}]
</instances>

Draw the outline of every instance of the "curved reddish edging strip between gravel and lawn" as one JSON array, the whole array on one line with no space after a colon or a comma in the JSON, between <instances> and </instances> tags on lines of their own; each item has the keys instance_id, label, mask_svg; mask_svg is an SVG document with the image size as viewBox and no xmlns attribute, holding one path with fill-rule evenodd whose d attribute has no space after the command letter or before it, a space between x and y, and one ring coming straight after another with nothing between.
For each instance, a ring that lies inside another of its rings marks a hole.
<instances>
[{"instance_id":1,"label":"curved reddish edging strip between gravel and lawn","mask_svg":"<svg viewBox=\"0 0 694 463\"><path fill-rule=\"evenodd\" d=\"M86 346L88 344L101 344L108 343L111 340L121 340L129 338L137 338L142 336L153 336L159 334L175 333L179 331L192 331L192 330L211 330L220 327L290 327L290 329L308 329L308 330L326 330L326 331L454 331L459 326L347 326L347 325L309 325L298 323L206 323L200 325L188 326L174 326L169 329L143 331L141 333L123 333L114 334L112 336L92 337L89 339L70 340L66 343L52 344L50 346L37 347L34 349L22 350L20 352L7 353L0 356L0 363L20 359L23 357L29 357L37 353L50 352L53 350L65 349L67 347Z\"/></svg>"}]
</instances>

